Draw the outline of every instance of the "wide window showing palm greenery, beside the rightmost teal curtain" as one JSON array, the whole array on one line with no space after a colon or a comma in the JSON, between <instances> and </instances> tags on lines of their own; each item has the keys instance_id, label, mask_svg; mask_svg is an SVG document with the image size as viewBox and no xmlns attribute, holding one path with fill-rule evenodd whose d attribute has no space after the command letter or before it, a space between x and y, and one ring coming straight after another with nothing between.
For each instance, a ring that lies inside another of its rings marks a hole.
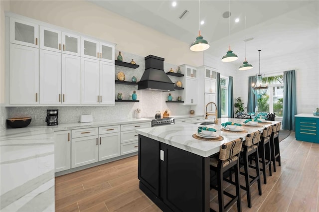
<instances>
[{"instance_id":1,"label":"wide window showing palm greenery, beside the rightmost teal curtain","mask_svg":"<svg viewBox=\"0 0 319 212\"><path fill-rule=\"evenodd\" d=\"M283 75L264 77L263 82L268 84L267 93L258 102L258 111L276 113L276 116L283 116L284 81Z\"/></svg>"}]
</instances>

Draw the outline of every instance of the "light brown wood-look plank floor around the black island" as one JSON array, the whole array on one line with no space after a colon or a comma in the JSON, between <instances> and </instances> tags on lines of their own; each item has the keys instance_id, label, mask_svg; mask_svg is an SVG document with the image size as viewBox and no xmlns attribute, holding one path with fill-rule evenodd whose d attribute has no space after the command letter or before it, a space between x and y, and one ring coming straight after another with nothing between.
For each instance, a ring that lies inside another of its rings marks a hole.
<instances>
[{"instance_id":1,"label":"light brown wood-look plank floor around the black island","mask_svg":"<svg viewBox=\"0 0 319 212\"><path fill-rule=\"evenodd\" d=\"M267 175L266 185L262 177L262 196L257 184L252 186L252 208L241 190L242 211L318 212L319 144L297 141L292 132L280 142L280 149L282 166L277 163L277 172ZM133 156L56 177L56 212L160 212L139 189L137 171L138 157ZM235 192L232 185L226 186L228 192ZM211 190L210 200L216 210L216 191ZM237 211L236 204L229 211Z\"/></svg>"}]
</instances>

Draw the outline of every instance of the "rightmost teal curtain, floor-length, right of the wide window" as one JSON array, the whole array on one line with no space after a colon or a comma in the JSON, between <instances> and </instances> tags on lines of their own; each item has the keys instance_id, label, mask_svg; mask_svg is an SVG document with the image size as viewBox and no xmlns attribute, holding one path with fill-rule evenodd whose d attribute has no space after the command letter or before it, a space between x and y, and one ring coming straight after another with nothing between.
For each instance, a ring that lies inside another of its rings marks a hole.
<instances>
[{"instance_id":1,"label":"rightmost teal curtain, floor-length, right of the wide window","mask_svg":"<svg viewBox=\"0 0 319 212\"><path fill-rule=\"evenodd\" d=\"M295 70L284 72L284 104L283 129L295 131L296 104L296 73Z\"/></svg>"}]
</instances>

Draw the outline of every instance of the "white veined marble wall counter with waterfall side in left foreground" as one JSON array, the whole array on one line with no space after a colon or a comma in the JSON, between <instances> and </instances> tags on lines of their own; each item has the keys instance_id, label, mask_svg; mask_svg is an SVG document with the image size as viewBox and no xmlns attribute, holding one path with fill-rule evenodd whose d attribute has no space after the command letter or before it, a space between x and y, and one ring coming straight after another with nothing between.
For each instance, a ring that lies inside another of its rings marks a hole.
<instances>
[{"instance_id":1,"label":"white veined marble wall counter with waterfall side in left foreground","mask_svg":"<svg viewBox=\"0 0 319 212\"><path fill-rule=\"evenodd\" d=\"M151 122L147 118L5 129L0 136L0 211L54 212L54 131Z\"/></svg>"}]
</instances>

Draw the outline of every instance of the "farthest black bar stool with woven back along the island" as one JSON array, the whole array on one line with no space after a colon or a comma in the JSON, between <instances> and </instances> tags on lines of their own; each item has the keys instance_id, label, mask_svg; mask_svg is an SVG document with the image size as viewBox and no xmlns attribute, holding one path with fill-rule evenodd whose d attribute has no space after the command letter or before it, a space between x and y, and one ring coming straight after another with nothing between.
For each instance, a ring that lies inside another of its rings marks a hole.
<instances>
[{"instance_id":1,"label":"farthest black bar stool with woven back along the island","mask_svg":"<svg viewBox=\"0 0 319 212\"><path fill-rule=\"evenodd\" d=\"M281 122L275 124L273 126L273 131L270 137L270 145L271 145L271 160L273 161L274 172L276 172L276 160L278 161L278 165L281 166L280 162L280 149L279 149L279 130L281 127Z\"/></svg>"}]
</instances>

